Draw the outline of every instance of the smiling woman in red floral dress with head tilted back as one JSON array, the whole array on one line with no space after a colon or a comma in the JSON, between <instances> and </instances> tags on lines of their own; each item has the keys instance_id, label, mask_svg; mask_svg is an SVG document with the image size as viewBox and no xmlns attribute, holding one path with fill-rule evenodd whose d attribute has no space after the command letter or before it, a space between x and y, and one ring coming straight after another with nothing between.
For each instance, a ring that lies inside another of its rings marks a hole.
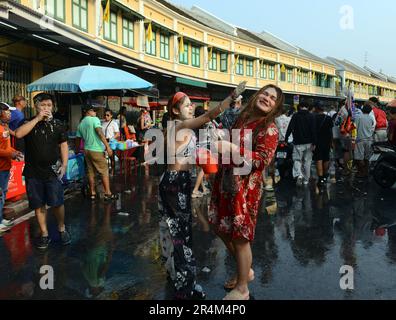
<instances>
[{"instance_id":1,"label":"smiling woman in red floral dress with head tilted back","mask_svg":"<svg viewBox=\"0 0 396 320\"><path fill-rule=\"evenodd\" d=\"M209 210L209 222L237 263L237 276L226 282L233 289L225 300L248 300L248 282L254 278L250 242L254 239L257 213L263 191L262 171L274 157L278 129L274 120L281 113L284 95L267 85L249 100L233 129L240 129L241 147L230 142L218 144L219 153L238 152L250 163L247 175L235 175L233 165L223 165L216 175ZM245 149L243 137L251 130L252 150Z\"/></svg>"}]
</instances>

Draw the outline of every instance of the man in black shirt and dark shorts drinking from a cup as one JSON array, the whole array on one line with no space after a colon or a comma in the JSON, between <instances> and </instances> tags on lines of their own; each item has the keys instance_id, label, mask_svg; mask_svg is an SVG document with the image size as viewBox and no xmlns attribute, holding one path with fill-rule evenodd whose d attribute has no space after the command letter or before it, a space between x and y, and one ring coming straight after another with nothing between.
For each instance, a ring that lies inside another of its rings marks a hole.
<instances>
[{"instance_id":1,"label":"man in black shirt and dark shorts drinking from a cup","mask_svg":"<svg viewBox=\"0 0 396 320\"><path fill-rule=\"evenodd\" d=\"M65 130L52 116L53 101L53 97L46 93L35 96L37 116L15 132L18 139L25 139L23 175L26 180L29 207L35 210L41 230L41 238L37 244L39 249L46 249L50 243L46 205L53 207L62 244L71 242L64 224L65 209L61 183L66 172L69 150Z\"/></svg>"}]
</instances>

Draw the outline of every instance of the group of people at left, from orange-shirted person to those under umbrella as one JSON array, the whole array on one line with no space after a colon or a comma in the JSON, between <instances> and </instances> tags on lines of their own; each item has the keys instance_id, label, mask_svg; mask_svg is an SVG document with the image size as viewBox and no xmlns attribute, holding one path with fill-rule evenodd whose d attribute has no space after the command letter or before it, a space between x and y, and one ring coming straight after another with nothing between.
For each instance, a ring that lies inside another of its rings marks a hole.
<instances>
[{"instance_id":1,"label":"group of people at left, from orange-shirted person to those under umbrella","mask_svg":"<svg viewBox=\"0 0 396 320\"><path fill-rule=\"evenodd\" d=\"M30 119L25 119L24 116L26 99L23 96L15 96L12 101L14 106L0 103L0 232L14 224L3 215L12 161L24 160L22 175L25 178L29 208L34 210L40 228L36 247L46 249L51 242L47 229L47 207L57 218L62 244L67 245L71 242L71 236L64 223L62 178L67 170L69 145L64 114L54 112L54 96L47 93L40 93L34 97L36 115ZM110 167L114 174L114 153L109 147L109 141L118 139L121 135L124 139L136 139L136 135L130 132L122 112L118 121L115 121L112 111L106 110L105 119L101 122L96 117L93 106L85 105L82 111L83 117L77 129L75 151L76 154L84 152L91 192L89 198L92 200L97 198L95 177L98 174L104 187L104 200L116 200L117 196L110 189L109 164L103 151L106 151L111 160ZM83 143L80 140L83 140Z\"/></svg>"}]
</instances>

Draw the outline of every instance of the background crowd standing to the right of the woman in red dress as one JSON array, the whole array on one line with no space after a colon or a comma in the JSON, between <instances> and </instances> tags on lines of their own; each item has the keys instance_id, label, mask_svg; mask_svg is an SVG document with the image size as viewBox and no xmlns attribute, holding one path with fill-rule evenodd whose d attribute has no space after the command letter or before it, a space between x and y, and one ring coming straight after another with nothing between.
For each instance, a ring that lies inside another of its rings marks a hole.
<instances>
[{"instance_id":1,"label":"background crowd standing to the right of the woman in red dress","mask_svg":"<svg viewBox=\"0 0 396 320\"><path fill-rule=\"evenodd\" d=\"M293 137L293 178L297 185L308 185L312 160L316 162L318 188L327 183L330 160L344 176L357 170L357 178L367 178L373 142L394 144L393 104L389 103L387 115L376 97L349 107L342 100L338 112L320 102L301 102L296 113L281 121L290 122L284 141L290 143Z\"/></svg>"}]
</instances>

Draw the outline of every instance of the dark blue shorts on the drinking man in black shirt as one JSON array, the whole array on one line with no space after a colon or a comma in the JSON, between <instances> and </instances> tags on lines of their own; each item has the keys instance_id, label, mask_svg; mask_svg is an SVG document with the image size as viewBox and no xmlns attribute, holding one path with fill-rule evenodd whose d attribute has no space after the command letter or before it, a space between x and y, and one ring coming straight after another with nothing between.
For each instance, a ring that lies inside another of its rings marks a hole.
<instances>
[{"instance_id":1,"label":"dark blue shorts on the drinking man in black shirt","mask_svg":"<svg viewBox=\"0 0 396 320\"><path fill-rule=\"evenodd\" d=\"M41 180L26 178L26 193L30 209L38 209L45 205L59 207L64 203L63 186L57 178Z\"/></svg>"}]
</instances>

